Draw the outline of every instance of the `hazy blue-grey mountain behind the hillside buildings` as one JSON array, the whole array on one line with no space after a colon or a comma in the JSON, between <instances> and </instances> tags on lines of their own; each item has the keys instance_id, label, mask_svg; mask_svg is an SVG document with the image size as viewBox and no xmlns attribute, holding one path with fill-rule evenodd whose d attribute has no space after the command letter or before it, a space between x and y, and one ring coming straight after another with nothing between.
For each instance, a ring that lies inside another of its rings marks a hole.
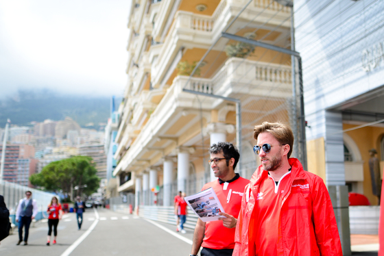
<instances>
[{"instance_id":1,"label":"hazy blue-grey mountain behind the hillside buildings","mask_svg":"<svg viewBox=\"0 0 384 256\"><path fill-rule=\"evenodd\" d=\"M32 121L73 118L81 127L99 128L110 117L110 97L80 97L60 95L51 90L19 90L12 96L0 99L0 127L7 118L14 125L30 125ZM93 126L87 125L93 123Z\"/></svg>"}]
</instances>

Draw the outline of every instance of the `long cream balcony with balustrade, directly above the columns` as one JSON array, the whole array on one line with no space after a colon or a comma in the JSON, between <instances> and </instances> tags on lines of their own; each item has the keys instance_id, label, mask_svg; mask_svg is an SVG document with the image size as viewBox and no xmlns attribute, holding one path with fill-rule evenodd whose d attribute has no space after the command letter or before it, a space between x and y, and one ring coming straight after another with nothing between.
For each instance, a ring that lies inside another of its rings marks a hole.
<instances>
[{"instance_id":1,"label":"long cream balcony with balustrade, directly above the columns","mask_svg":"<svg viewBox=\"0 0 384 256\"><path fill-rule=\"evenodd\" d=\"M248 72L249 70L252 72ZM245 71L247 71L246 74ZM149 116L147 122L143 124L143 127L139 125L139 120L145 113L145 102L148 101L149 95L158 90L142 92L140 100L137 101L137 104L142 105L136 107L136 114L132 119L132 125L135 125L135 129L139 134L134 142L130 144L130 149L122 157L114 171L114 175L118 175L121 170L128 170L128 166L130 166L129 170L133 170L136 162L143 162L141 159L148 160L140 168L155 164L158 160L156 157L153 157L153 155L152 157L143 156L151 155L152 151L160 151L158 147L153 149L153 145L162 136L169 137L172 134L176 136L175 139L177 140L178 134L169 133L169 129L176 124L182 127L180 130L187 127L188 124L182 123L182 115L183 112L186 112L185 110L197 110L202 107L203 110L208 111L222 102L221 99L207 97L200 106L195 95L183 92L183 88L226 97L239 93L264 97L266 93L273 90L273 97L280 97L284 101L284 98L291 97L290 72L289 66L253 62L232 57L213 79L192 78L187 84L189 77L178 76L173 80L171 87L167 90L160 103L156 105L154 112ZM244 86L248 86L247 90L244 90ZM156 155L156 153L153 154Z\"/></svg>"}]
</instances>

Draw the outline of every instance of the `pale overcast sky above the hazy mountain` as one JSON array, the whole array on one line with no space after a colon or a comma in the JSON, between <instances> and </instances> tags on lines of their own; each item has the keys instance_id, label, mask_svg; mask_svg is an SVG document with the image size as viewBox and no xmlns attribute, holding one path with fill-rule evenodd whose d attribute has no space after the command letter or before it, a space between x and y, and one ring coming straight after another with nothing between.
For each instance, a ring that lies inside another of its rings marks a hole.
<instances>
[{"instance_id":1,"label":"pale overcast sky above the hazy mountain","mask_svg":"<svg viewBox=\"0 0 384 256\"><path fill-rule=\"evenodd\" d=\"M0 0L0 98L19 89L120 97L130 0Z\"/></svg>"}]
</instances>

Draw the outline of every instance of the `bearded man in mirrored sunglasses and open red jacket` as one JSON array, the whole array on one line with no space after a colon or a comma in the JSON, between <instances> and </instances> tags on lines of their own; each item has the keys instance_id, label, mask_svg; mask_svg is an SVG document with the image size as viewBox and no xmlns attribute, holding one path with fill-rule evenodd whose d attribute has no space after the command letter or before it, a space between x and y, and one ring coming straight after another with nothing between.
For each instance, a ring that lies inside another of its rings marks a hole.
<instances>
[{"instance_id":1,"label":"bearded man in mirrored sunglasses and open red jacket","mask_svg":"<svg viewBox=\"0 0 384 256\"><path fill-rule=\"evenodd\" d=\"M254 139L261 166L245 188L233 255L342 256L324 181L289 158L291 129L264 122L254 127Z\"/></svg>"}]
</instances>

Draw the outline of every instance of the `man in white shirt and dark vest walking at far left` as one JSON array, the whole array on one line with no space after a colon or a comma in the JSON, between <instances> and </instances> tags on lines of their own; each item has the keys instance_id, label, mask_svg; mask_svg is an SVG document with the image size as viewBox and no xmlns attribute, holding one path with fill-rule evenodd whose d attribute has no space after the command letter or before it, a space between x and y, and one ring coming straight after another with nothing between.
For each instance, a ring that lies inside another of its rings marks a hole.
<instances>
[{"instance_id":1,"label":"man in white shirt and dark vest walking at far left","mask_svg":"<svg viewBox=\"0 0 384 256\"><path fill-rule=\"evenodd\" d=\"M24 245L28 244L29 225L38 213L36 200L32 199L32 192L25 192L25 198L19 201L16 209L16 222L19 222L19 242L23 242L23 227L25 227Z\"/></svg>"}]
</instances>

